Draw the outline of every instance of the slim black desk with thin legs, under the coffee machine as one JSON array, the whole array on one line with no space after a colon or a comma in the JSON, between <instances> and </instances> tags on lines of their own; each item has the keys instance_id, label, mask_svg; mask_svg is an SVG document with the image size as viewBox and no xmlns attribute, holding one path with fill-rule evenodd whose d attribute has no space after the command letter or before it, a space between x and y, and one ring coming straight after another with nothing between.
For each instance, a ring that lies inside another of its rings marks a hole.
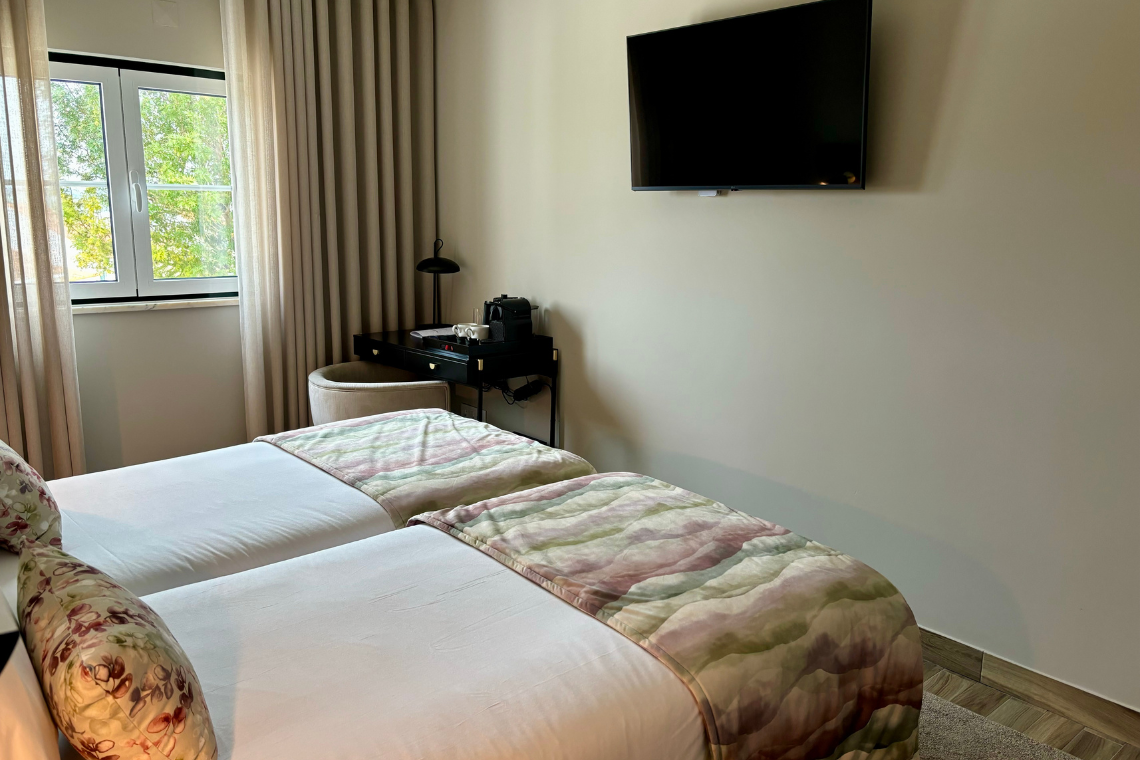
<instances>
[{"instance_id":1,"label":"slim black desk with thin legs, under the coffee machine","mask_svg":"<svg viewBox=\"0 0 1140 760\"><path fill-rule=\"evenodd\" d=\"M555 415L559 400L559 351L546 335L526 343L483 343L455 351L426 346L408 330L352 336L352 351L365 361L400 367L429 377L470 385L479 391L479 419L483 418L483 387L512 377L542 375L551 382L551 436L555 446Z\"/></svg>"}]
</instances>

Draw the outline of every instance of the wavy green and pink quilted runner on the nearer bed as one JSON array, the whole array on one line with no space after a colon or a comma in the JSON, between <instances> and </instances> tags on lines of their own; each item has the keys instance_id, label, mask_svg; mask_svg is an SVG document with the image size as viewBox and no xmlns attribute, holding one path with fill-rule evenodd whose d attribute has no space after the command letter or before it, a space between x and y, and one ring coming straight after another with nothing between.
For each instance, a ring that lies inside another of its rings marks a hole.
<instances>
[{"instance_id":1,"label":"wavy green and pink quilted runner on the nearer bed","mask_svg":"<svg viewBox=\"0 0 1140 760\"><path fill-rule=\"evenodd\" d=\"M424 514L637 643L697 698L714 759L905 760L919 629L834 549L668 483L589 475Z\"/></svg>"}]
</instances>

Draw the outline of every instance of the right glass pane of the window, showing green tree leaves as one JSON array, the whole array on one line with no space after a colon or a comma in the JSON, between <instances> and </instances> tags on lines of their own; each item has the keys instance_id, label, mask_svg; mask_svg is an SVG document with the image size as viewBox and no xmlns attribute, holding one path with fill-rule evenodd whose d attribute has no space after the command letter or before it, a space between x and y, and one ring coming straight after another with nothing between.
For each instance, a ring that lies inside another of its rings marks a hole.
<instances>
[{"instance_id":1,"label":"right glass pane of the window, showing green tree leaves","mask_svg":"<svg viewBox=\"0 0 1140 760\"><path fill-rule=\"evenodd\" d=\"M155 279L233 277L226 98L139 90Z\"/></svg>"}]
</instances>

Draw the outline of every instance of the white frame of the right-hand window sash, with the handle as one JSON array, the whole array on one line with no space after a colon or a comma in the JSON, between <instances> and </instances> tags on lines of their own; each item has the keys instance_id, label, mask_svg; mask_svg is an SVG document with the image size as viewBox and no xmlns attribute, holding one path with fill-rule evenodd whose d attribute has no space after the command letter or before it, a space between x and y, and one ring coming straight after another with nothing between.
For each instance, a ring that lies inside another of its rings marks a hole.
<instances>
[{"instance_id":1,"label":"white frame of the right-hand window sash, with the handle","mask_svg":"<svg viewBox=\"0 0 1140 760\"><path fill-rule=\"evenodd\" d=\"M139 295L203 295L234 293L237 277L194 277L185 279L155 279L154 260L150 258L150 213L147 196L146 157L142 153L142 113L139 90L165 90L188 95L217 95L226 97L226 82L199 76L157 74L154 72L120 70L123 93L123 126L127 136L127 172L132 193L135 228L135 268ZM227 190L233 186L171 185L155 189Z\"/></svg>"}]
</instances>

